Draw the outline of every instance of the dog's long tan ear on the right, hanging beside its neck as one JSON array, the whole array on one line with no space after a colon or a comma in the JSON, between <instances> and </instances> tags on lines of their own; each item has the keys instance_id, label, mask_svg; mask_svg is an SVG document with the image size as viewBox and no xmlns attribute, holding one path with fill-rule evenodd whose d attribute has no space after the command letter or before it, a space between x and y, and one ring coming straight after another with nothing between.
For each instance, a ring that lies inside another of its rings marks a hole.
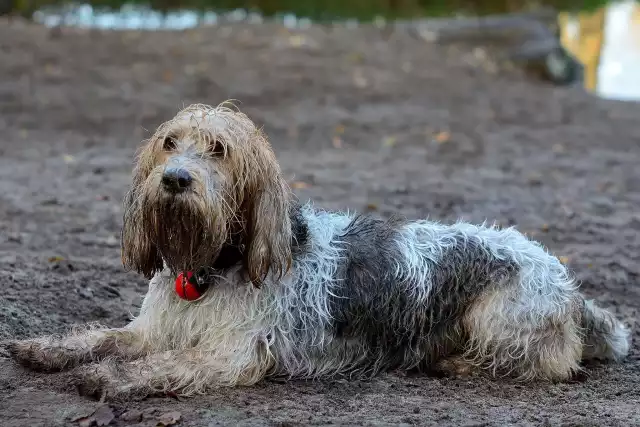
<instances>
[{"instance_id":1,"label":"dog's long tan ear on the right, hanging beside its neck","mask_svg":"<svg viewBox=\"0 0 640 427\"><path fill-rule=\"evenodd\" d=\"M260 153L260 164L243 207L245 228L244 268L257 287L269 273L282 278L291 267L291 219L289 186L280 174L275 156Z\"/></svg>"}]
</instances>

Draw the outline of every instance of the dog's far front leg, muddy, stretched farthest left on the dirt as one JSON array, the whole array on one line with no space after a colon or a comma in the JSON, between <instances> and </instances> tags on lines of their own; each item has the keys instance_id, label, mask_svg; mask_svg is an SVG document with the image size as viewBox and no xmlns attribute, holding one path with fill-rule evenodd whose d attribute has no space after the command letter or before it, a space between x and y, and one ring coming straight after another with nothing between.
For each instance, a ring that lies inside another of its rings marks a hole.
<instances>
[{"instance_id":1,"label":"dog's far front leg, muddy, stretched farthest left on the dirt","mask_svg":"<svg viewBox=\"0 0 640 427\"><path fill-rule=\"evenodd\" d=\"M105 357L133 359L143 354L142 336L133 328L85 327L64 336L46 336L9 343L21 365L55 372Z\"/></svg>"}]
</instances>

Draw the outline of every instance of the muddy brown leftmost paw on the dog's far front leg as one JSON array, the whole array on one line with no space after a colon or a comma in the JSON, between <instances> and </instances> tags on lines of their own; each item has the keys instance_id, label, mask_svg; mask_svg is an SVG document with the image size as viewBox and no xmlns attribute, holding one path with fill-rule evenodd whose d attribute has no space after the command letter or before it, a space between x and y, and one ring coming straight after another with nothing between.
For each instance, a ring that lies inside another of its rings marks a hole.
<instances>
[{"instance_id":1,"label":"muddy brown leftmost paw on the dog's far front leg","mask_svg":"<svg viewBox=\"0 0 640 427\"><path fill-rule=\"evenodd\" d=\"M81 359L76 350L49 338L11 341L7 347L16 362L39 372L64 371L76 366Z\"/></svg>"}]
</instances>

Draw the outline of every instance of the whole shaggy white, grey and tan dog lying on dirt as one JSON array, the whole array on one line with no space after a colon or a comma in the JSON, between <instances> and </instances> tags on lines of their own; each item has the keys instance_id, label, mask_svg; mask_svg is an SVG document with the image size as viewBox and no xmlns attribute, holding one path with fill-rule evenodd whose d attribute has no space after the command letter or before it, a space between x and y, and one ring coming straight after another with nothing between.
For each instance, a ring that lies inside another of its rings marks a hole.
<instances>
[{"instance_id":1,"label":"whole shaggy white, grey and tan dog lying on dirt","mask_svg":"<svg viewBox=\"0 0 640 427\"><path fill-rule=\"evenodd\" d=\"M555 382L629 351L623 323L514 228L299 203L266 135L228 104L162 124L124 207L123 263L150 279L137 317L10 344L26 367L73 370L91 396L390 370ZM180 276L207 287L181 298Z\"/></svg>"}]
</instances>

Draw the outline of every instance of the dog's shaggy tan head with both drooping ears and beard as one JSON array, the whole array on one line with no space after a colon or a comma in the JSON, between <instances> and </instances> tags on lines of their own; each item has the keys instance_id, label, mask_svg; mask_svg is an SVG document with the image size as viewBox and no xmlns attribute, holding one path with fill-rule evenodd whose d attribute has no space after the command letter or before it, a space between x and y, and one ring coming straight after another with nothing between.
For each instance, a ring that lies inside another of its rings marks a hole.
<instances>
[{"instance_id":1,"label":"dog's shaggy tan head with both drooping ears and beard","mask_svg":"<svg viewBox=\"0 0 640 427\"><path fill-rule=\"evenodd\" d=\"M238 249L248 279L291 262L289 188L266 136L243 113L191 105L138 153L125 197L122 259L146 277L195 270Z\"/></svg>"}]
</instances>

